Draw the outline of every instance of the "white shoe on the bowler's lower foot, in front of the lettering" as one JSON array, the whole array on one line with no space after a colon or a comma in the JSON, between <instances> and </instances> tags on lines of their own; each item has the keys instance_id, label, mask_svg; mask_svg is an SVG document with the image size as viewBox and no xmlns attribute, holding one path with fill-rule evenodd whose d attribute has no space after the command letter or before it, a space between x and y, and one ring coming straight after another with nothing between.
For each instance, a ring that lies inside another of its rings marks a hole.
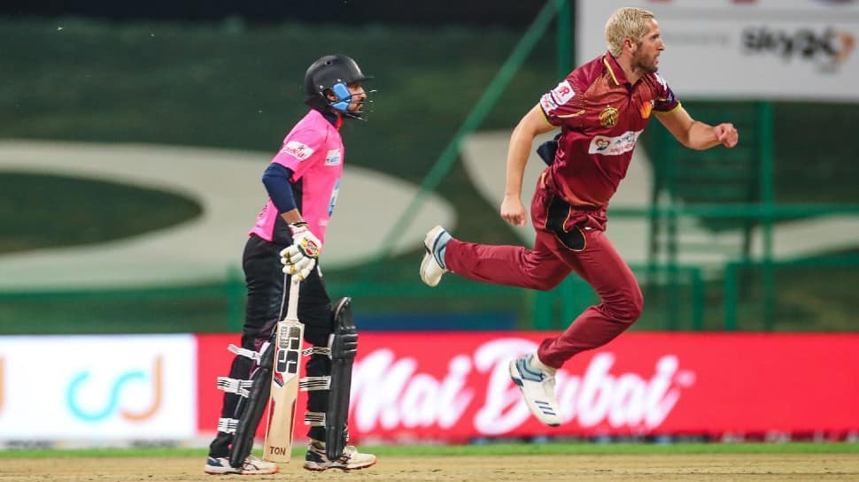
<instances>
[{"instance_id":1,"label":"white shoe on the bowler's lower foot, in front of the lettering","mask_svg":"<svg viewBox=\"0 0 859 482\"><path fill-rule=\"evenodd\" d=\"M540 422L561 425L561 410L554 395L556 369L540 363L537 356L526 355L510 362L510 378L519 386L525 404Z\"/></svg>"}]
</instances>

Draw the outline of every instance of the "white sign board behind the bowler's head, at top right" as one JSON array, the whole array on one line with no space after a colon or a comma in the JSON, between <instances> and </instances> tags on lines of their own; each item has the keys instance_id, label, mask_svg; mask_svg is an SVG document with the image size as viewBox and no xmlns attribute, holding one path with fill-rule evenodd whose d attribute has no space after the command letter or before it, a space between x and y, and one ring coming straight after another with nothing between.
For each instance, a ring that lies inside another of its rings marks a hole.
<instances>
[{"instance_id":1,"label":"white sign board behind the bowler's head, at top right","mask_svg":"<svg viewBox=\"0 0 859 482\"><path fill-rule=\"evenodd\" d=\"M577 0L577 62L606 52L618 0ZM688 98L859 101L859 1L646 0L660 73Z\"/></svg>"}]
</instances>

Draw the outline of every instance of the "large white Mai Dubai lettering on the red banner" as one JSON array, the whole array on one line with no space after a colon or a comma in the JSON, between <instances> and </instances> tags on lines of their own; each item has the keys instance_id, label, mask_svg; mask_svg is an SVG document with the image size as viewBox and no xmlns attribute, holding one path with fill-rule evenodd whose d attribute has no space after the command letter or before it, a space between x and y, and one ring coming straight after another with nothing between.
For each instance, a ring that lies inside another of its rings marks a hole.
<instances>
[{"instance_id":1,"label":"large white Mai Dubai lettering on the red banner","mask_svg":"<svg viewBox=\"0 0 859 482\"><path fill-rule=\"evenodd\" d=\"M352 379L353 423L360 432L376 428L395 430L460 423L476 390L466 384L472 369L484 374L485 400L472 421L477 432L499 435L515 430L530 419L518 388L510 381L507 363L511 354L534 351L530 340L491 340L476 348L472 358L458 354L447 363L447 373L437 379L417 371L413 357L395 359L389 349L379 349L356 363ZM559 370L556 394L565 422L577 419L589 428L600 424L631 429L653 429L677 406L682 388L692 386L693 371L678 371L677 356L664 355L655 363L651 379L633 372L612 374L615 355L599 353L584 375ZM479 382L478 382L479 383Z\"/></svg>"}]
</instances>

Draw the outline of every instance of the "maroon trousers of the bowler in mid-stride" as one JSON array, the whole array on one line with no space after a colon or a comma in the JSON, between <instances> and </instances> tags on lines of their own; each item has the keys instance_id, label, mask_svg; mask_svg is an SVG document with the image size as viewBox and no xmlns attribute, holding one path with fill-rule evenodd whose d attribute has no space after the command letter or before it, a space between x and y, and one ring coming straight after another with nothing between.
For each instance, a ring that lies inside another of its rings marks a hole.
<instances>
[{"instance_id":1,"label":"maroon trousers of the bowler in mid-stride","mask_svg":"<svg viewBox=\"0 0 859 482\"><path fill-rule=\"evenodd\" d=\"M576 272L602 302L571 322L557 337L540 344L537 355L560 368L577 353L614 340L641 315L644 298L630 267L605 233L605 210L577 210L538 183L531 201L537 231L534 249L492 246L452 239L445 264L451 272L476 281L550 290Z\"/></svg>"}]
</instances>

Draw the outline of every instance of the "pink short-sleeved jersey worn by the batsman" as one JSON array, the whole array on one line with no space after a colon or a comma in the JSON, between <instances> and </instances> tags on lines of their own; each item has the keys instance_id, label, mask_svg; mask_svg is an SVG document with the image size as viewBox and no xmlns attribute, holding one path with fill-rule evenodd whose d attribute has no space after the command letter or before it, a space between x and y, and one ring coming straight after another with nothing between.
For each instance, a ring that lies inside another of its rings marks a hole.
<instances>
[{"instance_id":1,"label":"pink short-sleeved jersey worn by the batsman","mask_svg":"<svg viewBox=\"0 0 859 482\"><path fill-rule=\"evenodd\" d=\"M325 119L321 112L312 110L298 121L290 134L283 139L280 152L272 159L292 170L290 182L302 217L310 231L325 241L325 230L337 203L337 190L343 174L343 140L337 127ZM296 188L296 184L300 187ZM278 219L281 221L278 223ZM251 233L273 241L275 224L284 226L280 213L271 198L259 213Z\"/></svg>"}]
</instances>

